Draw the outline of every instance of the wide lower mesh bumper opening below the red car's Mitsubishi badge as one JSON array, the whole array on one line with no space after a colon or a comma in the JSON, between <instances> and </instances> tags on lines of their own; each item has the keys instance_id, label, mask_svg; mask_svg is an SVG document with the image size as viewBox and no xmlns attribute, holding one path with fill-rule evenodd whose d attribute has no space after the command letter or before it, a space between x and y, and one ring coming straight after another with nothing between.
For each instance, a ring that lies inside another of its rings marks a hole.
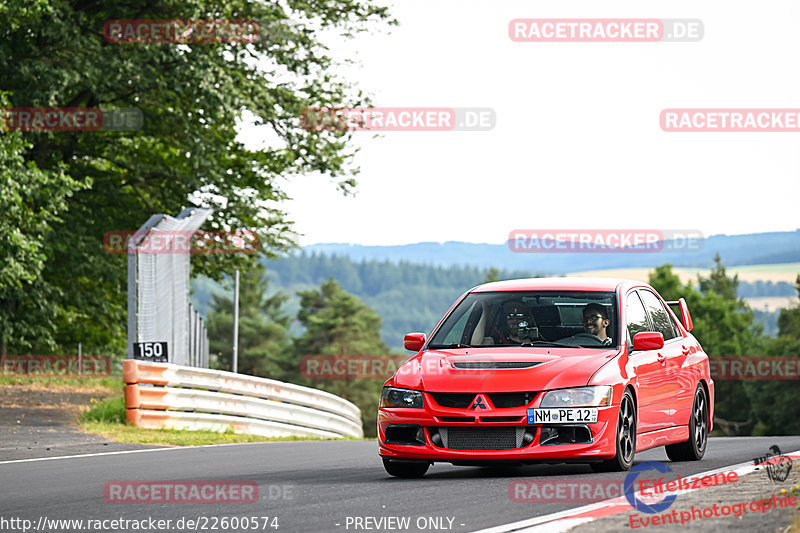
<instances>
[{"instance_id":1,"label":"wide lower mesh bumper opening below the red car's Mitsubishi badge","mask_svg":"<svg viewBox=\"0 0 800 533\"><path fill-rule=\"evenodd\" d=\"M431 442L449 450L510 450L533 442L529 426L430 428Z\"/></svg>"}]
</instances>

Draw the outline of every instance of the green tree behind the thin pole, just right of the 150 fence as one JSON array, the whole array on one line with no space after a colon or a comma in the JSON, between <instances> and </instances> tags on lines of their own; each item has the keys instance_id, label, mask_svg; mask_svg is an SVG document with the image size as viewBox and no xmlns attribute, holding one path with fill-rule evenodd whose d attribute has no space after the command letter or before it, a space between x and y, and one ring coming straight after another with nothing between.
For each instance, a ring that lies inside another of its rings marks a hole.
<instances>
[{"instance_id":1,"label":"green tree behind the thin pole, just right of the 150 fence","mask_svg":"<svg viewBox=\"0 0 800 533\"><path fill-rule=\"evenodd\" d=\"M279 381L298 376L288 335L289 316L282 308L289 297L269 293L262 265L244 272L239 287L238 371ZM232 285L232 283L231 283ZM208 314L209 351L217 355L215 367L233 366L233 297L214 296Z\"/></svg>"}]
</instances>

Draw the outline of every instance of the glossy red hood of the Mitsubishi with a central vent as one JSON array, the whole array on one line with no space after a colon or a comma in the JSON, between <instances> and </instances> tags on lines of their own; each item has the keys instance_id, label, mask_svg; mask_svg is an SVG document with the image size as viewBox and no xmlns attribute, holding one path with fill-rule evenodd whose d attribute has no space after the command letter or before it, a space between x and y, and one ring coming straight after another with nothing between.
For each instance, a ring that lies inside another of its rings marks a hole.
<instances>
[{"instance_id":1,"label":"glossy red hood of the Mitsubishi with a central vent","mask_svg":"<svg viewBox=\"0 0 800 533\"><path fill-rule=\"evenodd\" d=\"M616 348L428 350L403 364L393 381L396 387L431 392L515 392L577 387L586 385L592 374L619 353Z\"/></svg>"}]
</instances>

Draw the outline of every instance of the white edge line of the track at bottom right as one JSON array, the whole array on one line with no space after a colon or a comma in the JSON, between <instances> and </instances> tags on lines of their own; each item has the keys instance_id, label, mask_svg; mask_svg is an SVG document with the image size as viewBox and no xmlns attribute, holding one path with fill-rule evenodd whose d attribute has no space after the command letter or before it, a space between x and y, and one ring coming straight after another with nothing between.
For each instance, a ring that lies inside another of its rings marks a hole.
<instances>
[{"instance_id":1,"label":"white edge line of the track at bottom right","mask_svg":"<svg viewBox=\"0 0 800 533\"><path fill-rule=\"evenodd\" d=\"M797 459L800 456L800 450L794 451L791 453L784 453L782 455L791 456L792 459ZM695 478L701 478L703 476L713 476L714 474L719 474L720 472L736 472L737 475L743 476L745 474L749 474L751 472L755 472L759 467L753 465L752 462L747 463L739 463L732 466L724 466L722 468L717 468L716 470L709 470L707 472L700 472L699 474L692 474L690 477L684 478L687 481L691 481ZM686 494L689 492L694 492L696 490L701 490L700 488L697 489L682 489L676 490L674 494ZM636 493L638 495L639 492ZM574 509L567 509L566 511L560 511L558 513L552 513L545 516L537 516L535 518L528 518L526 520L520 520L518 522L511 522L508 524L503 524L500 526L490 527L487 529L481 529L479 531L475 531L474 533L508 533L511 531L514 532L560 532L560 531L567 531L577 525L591 522L593 520L597 520L598 517L580 517L580 518L570 518L574 517L578 514L583 514L591 511L595 511L597 509L602 509L603 507L609 507L612 505L620 505L624 504L629 509L633 509L633 507L628 504L628 500L624 496L620 496L619 498L613 498L610 500L605 500L602 502L592 503L589 505L584 505L582 507L576 507ZM608 516L613 516L615 514L619 514L621 512L627 511L627 509L620 510L615 513L611 513Z\"/></svg>"}]
</instances>

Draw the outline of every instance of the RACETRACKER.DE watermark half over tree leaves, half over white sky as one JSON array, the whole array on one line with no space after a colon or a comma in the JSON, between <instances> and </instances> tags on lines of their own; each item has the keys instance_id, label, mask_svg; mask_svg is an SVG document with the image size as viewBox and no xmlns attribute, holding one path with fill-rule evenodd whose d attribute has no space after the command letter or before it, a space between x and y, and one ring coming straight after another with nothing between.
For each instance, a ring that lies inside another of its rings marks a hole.
<instances>
[{"instance_id":1,"label":"RACETRACKER.DE watermark half over tree leaves, half over white sky","mask_svg":"<svg viewBox=\"0 0 800 533\"><path fill-rule=\"evenodd\" d=\"M496 122L488 107L308 108L300 114L308 131L489 131Z\"/></svg>"}]
</instances>

